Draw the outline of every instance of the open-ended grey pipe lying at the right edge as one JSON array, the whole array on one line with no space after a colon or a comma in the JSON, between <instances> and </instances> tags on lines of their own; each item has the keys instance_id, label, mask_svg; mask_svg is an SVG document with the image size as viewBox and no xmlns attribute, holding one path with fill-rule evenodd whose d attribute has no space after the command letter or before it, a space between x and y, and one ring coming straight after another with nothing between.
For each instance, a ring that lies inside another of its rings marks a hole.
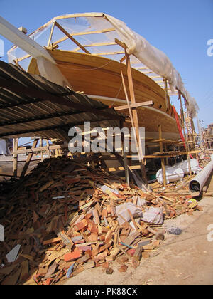
<instances>
[{"instance_id":1,"label":"open-ended grey pipe lying at the right edge","mask_svg":"<svg viewBox=\"0 0 213 299\"><path fill-rule=\"evenodd\" d=\"M202 171L197 174L194 179L190 181L189 184L189 189L190 189L190 194L192 196L199 196L200 192L202 191L202 188L204 187L205 182L207 182L207 179L209 175L212 173L213 170L213 160L207 164Z\"/></svg>"}]
</instances>

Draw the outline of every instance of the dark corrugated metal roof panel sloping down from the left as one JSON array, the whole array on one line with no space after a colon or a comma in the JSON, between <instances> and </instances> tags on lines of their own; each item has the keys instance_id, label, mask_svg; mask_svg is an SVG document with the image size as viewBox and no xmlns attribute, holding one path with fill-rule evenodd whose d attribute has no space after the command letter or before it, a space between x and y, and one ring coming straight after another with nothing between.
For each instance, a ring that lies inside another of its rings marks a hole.
<instances>
[{"instance_id":1,"label":"dark corrugated metal roof panel sloping down from the left","mask_svg":"<svg viewBox=\"0 0 213 299\"><path fill-rule=\"evenodd\" d=\"M63 138L70 127L118 127L124 118L86 95L0 61L0 138Z\"/></svg>"}]
</instances>

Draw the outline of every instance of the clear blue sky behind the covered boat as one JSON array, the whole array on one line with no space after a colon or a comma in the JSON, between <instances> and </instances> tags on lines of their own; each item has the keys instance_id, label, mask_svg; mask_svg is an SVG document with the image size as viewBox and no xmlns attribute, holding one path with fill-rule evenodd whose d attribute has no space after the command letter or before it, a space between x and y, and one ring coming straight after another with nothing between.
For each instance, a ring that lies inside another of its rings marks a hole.
<instances>
[{"instance_id":1,"label":"clear blue sky behind the covered boat","mask_svg":"<svg viewBox=\"0 0 213 299\"><path fill-rule=\"evenodd\" d=\"M213 122L213 56L207 56L207 41L213 39L213 0L0 0L1 16L28 33L54 16L77 12L110 14L163 51L197 100L202 125ZM1 39L6 52L11 43Z\"/></svg>"}]
</instances>

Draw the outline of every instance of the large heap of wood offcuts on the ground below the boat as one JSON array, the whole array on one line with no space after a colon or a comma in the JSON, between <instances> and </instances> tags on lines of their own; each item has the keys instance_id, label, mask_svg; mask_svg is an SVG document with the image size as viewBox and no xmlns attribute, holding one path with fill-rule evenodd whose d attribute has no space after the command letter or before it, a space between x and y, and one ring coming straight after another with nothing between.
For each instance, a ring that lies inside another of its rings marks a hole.
<instances>
[{"instance_id":1,"label":"large heap of wood offcuts on the ground below the boat","mask_svg":"<svg viewBox=\"0 0 213 299\"><path fill-rule=\"evenodd\" d=\"M53 285L89 268L137 267L163 242L163 220L196 208L189 200L130 188L65 157L45 160L0 198L0 282Z\"/></svg>"}]
</instances>

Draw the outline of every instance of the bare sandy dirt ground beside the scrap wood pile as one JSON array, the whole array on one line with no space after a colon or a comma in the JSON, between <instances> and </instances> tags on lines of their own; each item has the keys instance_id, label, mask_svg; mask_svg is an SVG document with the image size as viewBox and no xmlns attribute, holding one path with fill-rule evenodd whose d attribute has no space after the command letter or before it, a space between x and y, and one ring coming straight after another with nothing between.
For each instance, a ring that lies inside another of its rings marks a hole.
<instances>
[{"instance_id":1,"label":"bare sandy dirt ground beside the scrap wood pile","mask_svg":"<svg viewBox=\"0 0 213 299\"><path fill-rule=\"evenodd\" d=\"M142 259L138 268L119 273L119 263L111 263L114 273L92 268L65 280L65 285L213 285L213 241L208 241L213 225L213 197L200 201L203 211L183 214L165 221L182 229L179 236L165 234L165 242L151 258ZM213 230L213 229L212 229ZM212 234L213 236L213 234Z\"/></svg>"}]
</instances>

